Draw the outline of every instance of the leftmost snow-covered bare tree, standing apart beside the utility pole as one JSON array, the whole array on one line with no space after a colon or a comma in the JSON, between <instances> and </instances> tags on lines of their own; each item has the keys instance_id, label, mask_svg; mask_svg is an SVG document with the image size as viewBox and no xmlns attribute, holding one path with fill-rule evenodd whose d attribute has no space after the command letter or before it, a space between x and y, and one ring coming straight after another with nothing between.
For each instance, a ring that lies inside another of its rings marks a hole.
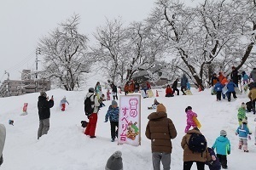
<instances>
[{"instance_id":1,"label":"leftmost snow-covered bare tree, standing apart beside the utility pole","mask_svg":"<svg viewBox=\"0 0 256 170\"><path fill-rule=\"evenodd\" d=\"M67 91L79 86L83 73L90 71L90 59L86 55L88 38L79 33L78 26L79 15L74 14L38 44L44 55L44 77L54 79Z\"/></svg>"}]
</instances>

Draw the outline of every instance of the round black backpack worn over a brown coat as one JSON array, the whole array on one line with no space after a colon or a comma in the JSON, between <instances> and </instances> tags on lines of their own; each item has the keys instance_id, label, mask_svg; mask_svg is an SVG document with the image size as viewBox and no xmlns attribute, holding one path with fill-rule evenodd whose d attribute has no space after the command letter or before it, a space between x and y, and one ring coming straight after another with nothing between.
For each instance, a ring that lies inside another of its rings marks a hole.
<instances>
[{"instance_id":1,"label":"round black backpack worn over a brown coat","mask_svg":"<svg viewBox=\"0 0 256 170\"><path fill-rule=\"evenodd\" d=\"M207 148L207 140L204 135L199 133L192 133L189 138L189 150L193 152L202 153Z\"/></svg>"}]
</instances>

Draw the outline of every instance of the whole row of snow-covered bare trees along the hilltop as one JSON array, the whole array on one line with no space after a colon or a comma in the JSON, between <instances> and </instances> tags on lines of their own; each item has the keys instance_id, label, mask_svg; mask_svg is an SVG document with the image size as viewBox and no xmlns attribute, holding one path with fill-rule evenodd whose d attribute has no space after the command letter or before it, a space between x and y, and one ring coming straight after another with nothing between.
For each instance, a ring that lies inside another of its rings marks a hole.
<instances>
[{"instance_id":1,"label":"whole row of snow-covered bare trees along the hilltop","mask_svg":"<svg viewBox=\"0 0 256 170\"><path fill-rule=\"evenodd\" d=\"M95 63L120 84L137 71L160 64L170 78L185 73L205 88L213 72L228 76L233 65L255 67L255 11L255 0L205 0L197 7L157 0L146 20L128 26L121 19L107 20L93 33L96 45L92 47L79 33L75 14L40 40L44 77L73 90Z\"/></svg>"}]
</instances>

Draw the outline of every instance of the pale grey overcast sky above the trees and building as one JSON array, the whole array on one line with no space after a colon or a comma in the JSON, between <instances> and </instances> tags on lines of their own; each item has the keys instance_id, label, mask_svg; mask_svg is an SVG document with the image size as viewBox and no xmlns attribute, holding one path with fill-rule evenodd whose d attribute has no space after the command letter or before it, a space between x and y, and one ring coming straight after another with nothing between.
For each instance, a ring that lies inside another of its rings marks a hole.
<instances>
[{"instance_id":1,"label":"pale grey overcast sky above the trees and building","mask_svg":"<svg viewBox=\"0 0 256 170\"><path fill-rule=\"evenodd\" d=\"M191 2L190 0L186 0ZM129 24L145 19L155 0L0 0L0 81L20 79L22 69L35 70L38 40L73 14L80 15L80 33L91 38L106 18ZM188 3L189 3L188 2ZM38 59L43 59L38 55ZM40 70L40 63L39 63Z\"/></svg>"}]
</instances>

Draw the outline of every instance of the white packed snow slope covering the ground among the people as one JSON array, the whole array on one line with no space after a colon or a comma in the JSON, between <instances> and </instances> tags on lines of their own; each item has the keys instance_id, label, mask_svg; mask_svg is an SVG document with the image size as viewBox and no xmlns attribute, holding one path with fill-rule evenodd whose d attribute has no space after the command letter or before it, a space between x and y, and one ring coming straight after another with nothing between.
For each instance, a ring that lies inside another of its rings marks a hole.
<instances>
[{"instance_id":1,"label":"white packed snow slope covering the ground among the people","mask_svg":"<svg viewBox=\"0 0 256 170\"><path fill-rule=\"evenodd\" d=\"M177 138L172 140L172 169L183 168L183 149L181 140L186 125L185 108L190 105L198 114L201 122L201 133L206 138L208 145L212 147L220 130L228 133L231 143L231 154L228 156L228 166L232 170L255 169L256 145L254 136L248 141L249 153L238 150L238 137L236 136L237 110L241 102L247 102L247 94L237 95L238 99L216 101L216 96L210 94L210 90L197 92L192 89L194 95L166 98L165 89L158 89L160 103L166 105L167 115L172 119L177 128ZM153 90L155 92L155 90ZM103 91L106 93L106 90ZM125 170L150 170L153 169L151 161L150 140L145 137L145 128L148 123L148 106L153 104L154 98L142 99L142 142L140 146L129 144L117 144L110 142L110 124L104 122L108 105L99 111L96 127L96 139L90 139L84 135L84 128L80 126L84 116L84 96L86 91L67 92L55 89L47 92L49 97L54 95L55 105L50 110L50 128L47 135L37 139L38 133L38 95L26 94L17 97L0 99L0 123L7 128L7 137L3 149L3 165L1 170L102 170L108 157L116 150L123 153ZM155 94L155 93L154 93ZM70 105L67 111L60 110L60 100L67 96ZM119 94L120 95L120 94ZM28 115L20 116L23 104L27 102ZM247 113L250 130L254 133L254 115ZM9 120L14 120L14 126L9 125ZM193 165L192 169L196 169ZM208 167L206 167L208 169Z\"/></svg>"}]
</instances>

